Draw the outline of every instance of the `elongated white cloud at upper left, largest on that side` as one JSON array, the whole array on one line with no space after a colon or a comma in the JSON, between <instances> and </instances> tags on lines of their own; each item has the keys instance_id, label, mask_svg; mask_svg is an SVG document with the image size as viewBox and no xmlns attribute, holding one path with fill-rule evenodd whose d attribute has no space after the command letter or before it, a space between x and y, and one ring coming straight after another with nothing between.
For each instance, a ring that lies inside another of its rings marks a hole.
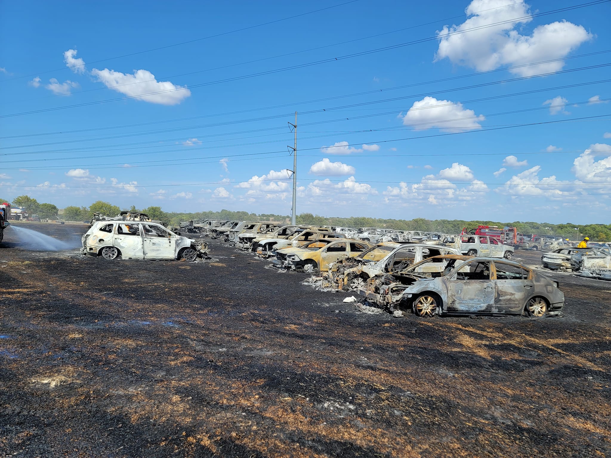
<instances>
[{"instance_id":1,"label":"elongated white cloud at upper left, largest on that side","mask_svg":"<svg viewBox=\"0 0 611 458\"><path fill-rule=\"evenodd\" d=\"M179 86L169 81L157 81L155 75L148 70L134 70L133 75L127 75L108 68L104 70L93 68L91 74L109 89L149 103L176 105L191 95L186 85Z\"/></svg>"}]
</instances>

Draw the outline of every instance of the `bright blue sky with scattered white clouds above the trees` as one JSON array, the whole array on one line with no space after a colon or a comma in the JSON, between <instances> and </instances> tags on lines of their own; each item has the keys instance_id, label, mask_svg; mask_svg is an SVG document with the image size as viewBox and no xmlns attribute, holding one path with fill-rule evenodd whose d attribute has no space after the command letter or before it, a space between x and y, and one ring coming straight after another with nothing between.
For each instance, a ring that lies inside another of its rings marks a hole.
<instances>
[{"instance_id":1,"label":"bright blue sky with scattered white clouds above the trees","mask_svg":"<svg viewBox=\"0 0 611 458\"><path fill-rule=\"evenodd\" d=\"M0 197L289 214L297 111L298 213L608 222L578 4L2 2Z\"/></svg>"}]
</instances>

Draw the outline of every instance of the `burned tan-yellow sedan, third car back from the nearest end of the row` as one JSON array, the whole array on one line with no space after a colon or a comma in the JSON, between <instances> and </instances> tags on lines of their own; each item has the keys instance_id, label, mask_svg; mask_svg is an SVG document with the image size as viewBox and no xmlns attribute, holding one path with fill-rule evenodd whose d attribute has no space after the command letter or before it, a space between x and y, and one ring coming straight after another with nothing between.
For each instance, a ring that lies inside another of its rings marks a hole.
<instances>
[{"instance_id":1,"label":"burned tan-yellow sedan, third car back from the nearest end of the row","mask_svg":"<svg viewBox=\"0 0 611 458\"><path fill-rule=\"evenodd\" d=\"M318 239L302 247L277 250L273 262L278 267L304 272L327 272L337 261L360 255L370 248L367 242L356 239Z\"/></svg>"}]
</instances>

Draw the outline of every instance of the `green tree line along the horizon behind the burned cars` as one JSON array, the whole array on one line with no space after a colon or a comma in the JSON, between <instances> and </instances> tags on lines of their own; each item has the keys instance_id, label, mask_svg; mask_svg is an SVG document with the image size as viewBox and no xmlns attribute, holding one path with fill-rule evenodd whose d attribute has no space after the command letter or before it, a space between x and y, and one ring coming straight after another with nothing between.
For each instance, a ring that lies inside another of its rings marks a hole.
<instances>
[{"instance_id":1,"label":"green tree line along the horizon behind the burned cars","mask_svg":"<svg viewBox=\"0 0 611 458\"><path fill-rule=\"evenodd\" d=\"M7 200L1 200L0 202L9 202ZM38 214L41 219L55 219L57 218L58 209L51 203L38 203L36 199L31 198L27 195L20 195L12 201L12 205L21 206L27 209L30 214ZM178 213L178 212L165 212L160 206L149 206L147 208L137 209L136 206L132 205L131 208L125 208L124 210L139 211L146 213L152 219L161 220L168 225L177 226L182 221L188 220L202 220L202 219L222 219L222 220L265 220L265 221L276 221L276 222L287 222L290 220L288 215L278 214L266 214L266 213L249 213L247 211L200 211L195 213ZM93 213L103 214L104 216L116 216L119 214L121 209L117 205L112 205L109 202L98 200L93 202L89 207L86 206L67 206L64 208L60 219L65 221L89 221L93 216ZM318 216L312 213L302 213L297 216L298 224L312 224L312 225L331 225L341 227L379 227L389 228L397 230L409 230L409 231L424 231L424 232L441 232L444 234L459 234L463 228L467 230L475 228L479 225L483 226L497 226L499 228L504 227L516 227L518 232L522 234L549 234L562 236L563 238L569 238L571 240L577 239L577 237L588 236L591 240L596 241L611 241L611 225L610 224L586 224L579 225L576 223L566 224L550 224L550 223L536 223L536 222L500 222L500 221L489 221L489 220L461 220L461 219L425 219L425 218L414 218L414 219L383 219L383 218L370 218L370 217L325 217Z\"/></svg>"}]
</instances>

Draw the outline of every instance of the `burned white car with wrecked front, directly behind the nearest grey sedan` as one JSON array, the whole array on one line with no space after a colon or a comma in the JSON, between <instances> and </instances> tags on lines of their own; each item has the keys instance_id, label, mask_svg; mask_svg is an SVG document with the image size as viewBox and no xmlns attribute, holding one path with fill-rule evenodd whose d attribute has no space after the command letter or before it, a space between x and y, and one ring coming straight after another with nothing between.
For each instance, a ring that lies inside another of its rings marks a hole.
<instances>
[{"instance_id":1,"label":"burned white car with wrecked front, directly behind the nearest grey sedan","mask_svg":"<svg viewBox=\"0 0 611 458\"><path fill-rule=\"evenodd\" d=\"M383 242L356 258L339 263L328 277L338 289L356 291L376 275L402 271L432 256L459 254L458 250L441 245Z\"/></svg>"}]
</instances>

